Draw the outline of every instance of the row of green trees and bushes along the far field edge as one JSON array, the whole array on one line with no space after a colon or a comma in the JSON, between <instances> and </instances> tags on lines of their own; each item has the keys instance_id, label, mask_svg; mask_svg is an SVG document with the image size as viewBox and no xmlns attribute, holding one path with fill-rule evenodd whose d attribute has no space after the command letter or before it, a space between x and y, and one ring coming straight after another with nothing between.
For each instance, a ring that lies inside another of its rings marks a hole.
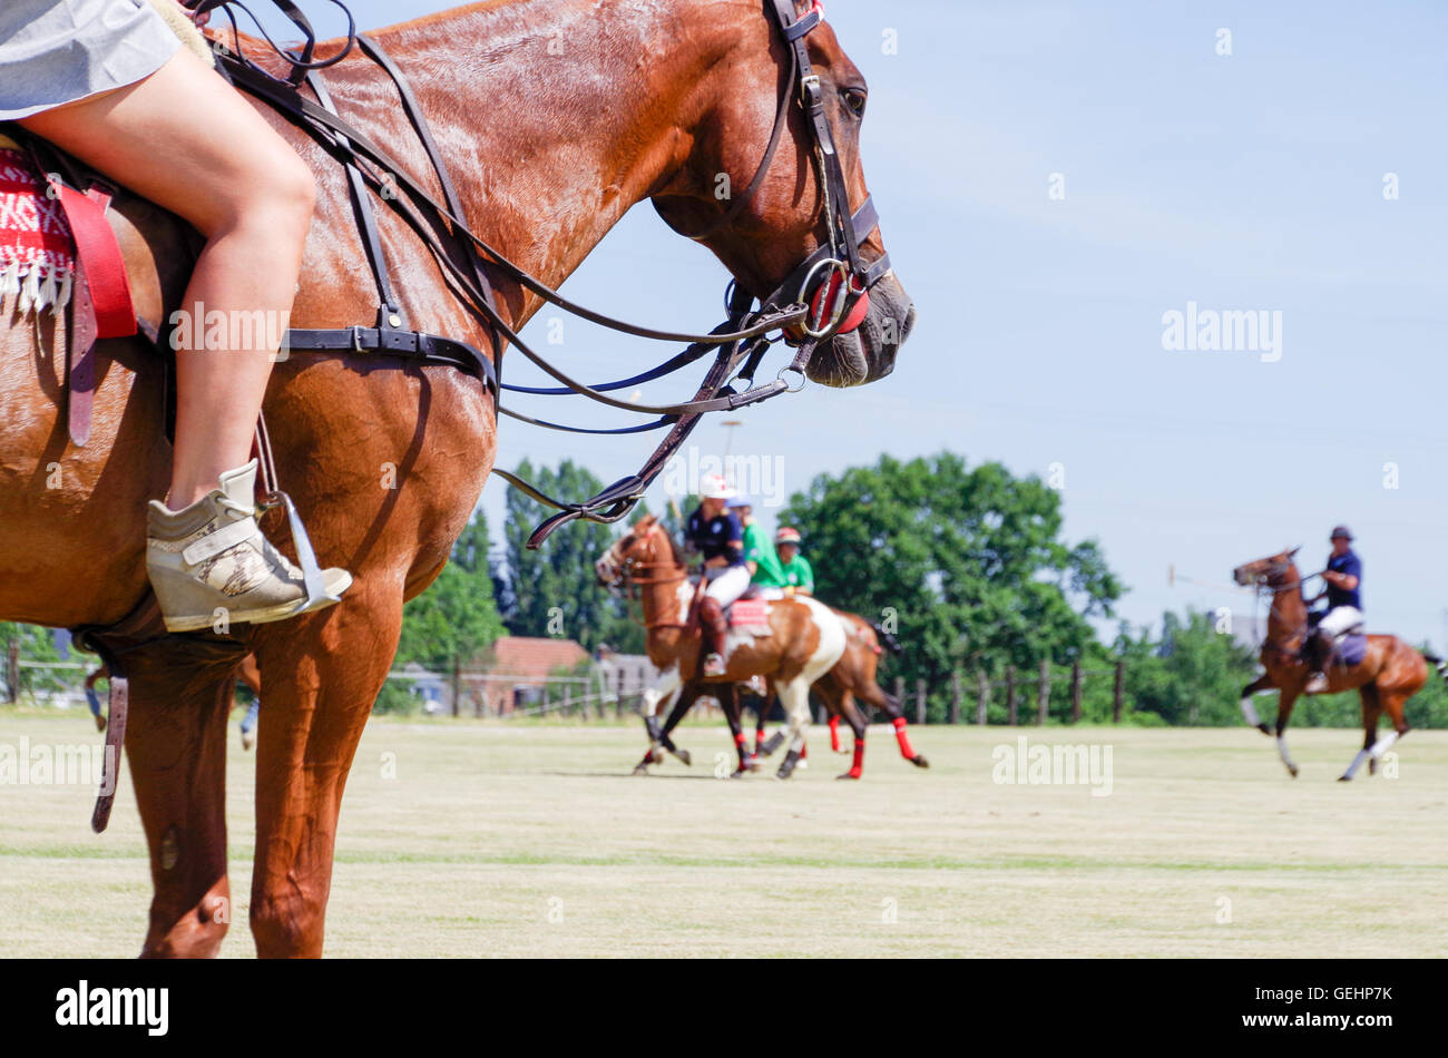
<instances>
[{"instance_id":1,"label":"row of green trees and bushes along the far field edge","mask_svg":"<svg viewBox=\"0 0 1448 1058\"><path fill-rule=\"evenodd\" d=\"M602 486L586 467L524 460L517 473L543 492L594 495ZM685 498L659 511L678 534ZM634 517L646 508L640 505ZM533 527L550 512L510 491L500 550L494 550L479 508L433 585L404 608L394 669L416 663L450 673L469 664L501 635L576 640L595 651L608 644L643 653L644 631L627 599L597 582L594 562L623 527L573 521L547 544L529 551ZM924 680L927 715L947 716L953 683L973 687L983 673L999 680L1008 669L1030 682L1045 661L1053 673L1073 664L1095 670L1124 664L1125 714L1135 724L1241 724L1238 696L1257 673L1255 648L1218 627L1211 614L1163 615L1161 630L1118 622L1105 641L1098 628L1112 621L1127 592L1096 540L1070 541L1063 533L1061 494L1037 475L1015 476L1005 466L970 466L941 452L909 460L880 456L870 466L820 475L794 494L779 514L805 540L817 596L889 630L901 654L886 656L882 680ZM637 604L633 604L637 608ZM20 643L26 657L52 660L49 637L26 625L0 624L0 641ZM22 690L49 670L22 670ZM1114 687L1086 680L1082 718L1111 718ZM379 709L416 708L405 682L390 680ZM1270 709L1266 711L1270 715ZM1448 690L1434 676L1407 706L1415 727L1448 725ZM1354 727L1355 693L1299 702L1295 724Z\"/></svg>"}]
</instances>

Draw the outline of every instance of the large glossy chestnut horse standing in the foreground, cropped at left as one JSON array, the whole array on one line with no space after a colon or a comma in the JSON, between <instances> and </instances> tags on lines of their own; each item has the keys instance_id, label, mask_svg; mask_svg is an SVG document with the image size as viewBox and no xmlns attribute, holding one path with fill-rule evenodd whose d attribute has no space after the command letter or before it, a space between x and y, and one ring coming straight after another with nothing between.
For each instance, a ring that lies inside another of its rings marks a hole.
<instances>
[{"instance_id":1,"label":"large glossy chestnut horse standing in the foreground, cropped at left","mask_svg":"<svg viewBox=\"0 0 1448 1058\"><path fill-rule=\"evenodd\" d=\"M702 232L699 242L759 297L833 239L812 165L817 133L798 106L798 85L788 84L791 45L762 17L769 10L759 0L491 0L371 36L411 81L453 168L466 226L517 266L556 288L630 207L649 200L676 230ZM242 41L258 54L265 48ZM857 207L867 195L863 78L827 23L802 46L849 206ZM339 49L323 42L317 54ZM259 61L284 71L269 56ZM390 75L358 52L324 74L340 114L440 197ZM782 119L778 151L760 165L776 109L786 114L780 98L795 104ZM256 106L319 181L291 326L369 326L378 292L340 166ZM715 197L724 179L744 188L756 172L747 201ZM449 285L401 208L379 206L378 224L413 326L468 342L497 362L502 350L489 340L492 330ZM198 240L130 195L117 195L107 216L138 314L168 318ZM873 226L859 253L883 258ZM488 272L513 329L544 304L513 272L491 263ZM863 324L821 342L809 376L844 385L888 373L912 321L899 281L883 274ZM148 598L145 504L164 496L171 462L164 360L143 340L100 343L93 431L88 444L74 447L61 412L64 320L45 330L22 317L0 321L0 618L114 625ZM337 812L397 650L403 604L443 569L494 462L492 394L449 366L292 349L272 373L265 415L279 483L317 554L356 580L324 611L237 625L227 635L142 637L127 654L126 757L153 887L143 955L214 955L230 922L224 740L246 653L256 656L266 701L251 931L264 957L321 954ZM264 528L278 540L284 524L272 511Z\"/></svg>"}]
</instances>

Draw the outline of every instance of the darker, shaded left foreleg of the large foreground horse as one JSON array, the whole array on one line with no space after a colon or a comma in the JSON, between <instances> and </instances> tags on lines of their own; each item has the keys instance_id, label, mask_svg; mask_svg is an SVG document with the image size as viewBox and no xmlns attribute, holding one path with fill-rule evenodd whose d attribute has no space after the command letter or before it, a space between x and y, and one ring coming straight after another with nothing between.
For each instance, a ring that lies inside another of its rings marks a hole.
<instances>
[{"instance_id":1,"label":"darker, shaded left foreleg of the large foreground horse","mask_svg":"<svg viewBox=\"0 0 1448 1058\"><path fill-rule=\"evenodd\" d=\"M232 921L226 721L237 657L226 644L171 640L126 656L126 760L153 892L143 957L216 955Z\"/></svg>"}]
</instances>

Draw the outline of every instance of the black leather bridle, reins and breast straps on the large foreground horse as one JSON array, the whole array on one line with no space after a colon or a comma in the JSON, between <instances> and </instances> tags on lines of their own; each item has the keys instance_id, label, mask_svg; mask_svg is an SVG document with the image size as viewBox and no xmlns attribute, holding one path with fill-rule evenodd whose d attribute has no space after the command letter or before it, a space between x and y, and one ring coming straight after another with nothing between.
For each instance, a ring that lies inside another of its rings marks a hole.
<instances>
[{"instance_id":1,"label":"black leather bridle, reins and breast straps on the large foreground horse","mask_svg":"<svg viewBox=\"0 0 1448 1058\"><path fill-rule=\"evenodd\" d=\"M197 16L236 3L236 0L185 1ZM820 75L814 72L809 62L808 35L820 25L824 14L820 0L814 0L809 12L799 17L795 17L794 0L765 0L765 14L782 33L789 55L789 77L779 101L769 145L744 192L730 204L730 208L718 221L711 224L710 230L691 237L704 240L715 234L736 220L744 206L753 200L778 153L783 132L788 127L789 109L796 100L807 117L807 129L811 139L809 149L814 161L812 169L820 182L827 237L811 255L795 266L779 287L765 295L757 307L752 295L744 292L737 282L731 282L725 294L728 317L708 334L639 327L584 308L488 245L462 220L462 203L455 191L442 153L433 140L421 107L405 75L382 51L381 45L365 33L353 33L349 13L348 42L342 54L316 61L313 59L316 36L306 16L291 0L274 1L303 30L307 39L307 43L298 54L284 52L277 48L278 55L291 64L291 75L285 80L272 77L246 59L240 54L240 38L235 32L235 20L232 23L235 49L227 51L223 45L213 42L217 52L217 69L236 87L262 98L292 120L345 166L352 194L353 214L363 247L366 249L368 265L372 271L379 302L376 324L374 327L291 329L287 333L284 347L304 352L375 352L413 363L443 363L460 368L476 375L489 392L492 392L495 412L552 430L586 434L633 434L670 427L663 441L660 441L637 473L614 482L598 495L582 502L555 499L515 475L494 467L492 473L504 478L510 485L518 488L533 499L559 511L559 514L544 520L533 531L527 541L529 549L537 549L553 530L575 518L597 522L615 522L624 518L639 504L644 491L663 470L668 460L678 452L704 414L711 411L736 411L746 405L778 397L782 392L798 392L802 389L805 371L817 346L840 333L841 324L844 324L856 302L866 297L869 289L889 272L888 255L882 255L877 261L869 263L860 258L860 245L877 226L879 216L869 195L866 195L857 210L850 211L844 169L824 110L824 91ZM332 1L342 6L339 0ZM242 10L246 9L242 7ZM227 16L230 16L230 12L227 12ZM361 45L368 58L391 77L397 87L403 110L426 149L433 174L442 187L445 201L437 201L387 151L337 116L321 80L320 68L340 61L352 51L353 43ZM300 94L298 87L304 82L316 94L316 101ZM372 195L368 194L369 190L413 227L436 259L455 292L466 295L468 307L487 326L492 337L494 350L501 352L502 342L510 343L560 385L520 386L504 384L495 363L466 342L408 329L405 313L394 294L388 274L382 242L378 236ZM405 191L407 194L403 195L398 191ZM404 198L408 201L404 203ZM450 239L439 234L439 229L449 232ZM458 246L462 249L460 255L453 252ZM458 256L462 256L462 263L456 259ZM599 326L636 337L686 342L689 346L663 363L626 379L595 385L579 382L534 352L501 317L488 275L489 269L501 272L563 311ZM760 362L773 344L785 340L789 329L798 329L802 334L798 343L792 343L795 346L794 359L779 371L773 381L756 385L754 375ZM769 337L769 334L775 334L775 337ZM679 371L702 359L711 350L715 353L714 363L704 375L692 399L654 405L610 397L611 391L633 388ZM786 382L785 375L795 375L799 379L798 385ZM565 426L501 407L498 397L502 389L547 397L576 394L599 404L624 411L657 415L657 418L640 426L608 430Z\"/></svg>"}]
</instances>

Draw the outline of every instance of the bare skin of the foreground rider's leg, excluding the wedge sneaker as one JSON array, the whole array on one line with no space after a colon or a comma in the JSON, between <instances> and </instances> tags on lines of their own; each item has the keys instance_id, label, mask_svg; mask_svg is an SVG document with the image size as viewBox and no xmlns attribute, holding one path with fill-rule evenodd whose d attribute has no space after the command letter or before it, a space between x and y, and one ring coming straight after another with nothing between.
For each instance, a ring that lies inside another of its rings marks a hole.
<instances>
[{"instance_id":1,"label":"bare skin of the foreground rider's leg, excluding the wedge sneaker","mask_svg":"<svg viewBox=\"0 0 1448 1058\"><path fill-rule=\"evenodd\" d=\"M195 55L182 49L151 77L22 124L206 236L185 291L188 311L200 302L227 320L255 311L285 320L316 184L291 146ZM200 499L248 460L274 353L177 352L171 509Z\"/></svg>"}]
</instances>

